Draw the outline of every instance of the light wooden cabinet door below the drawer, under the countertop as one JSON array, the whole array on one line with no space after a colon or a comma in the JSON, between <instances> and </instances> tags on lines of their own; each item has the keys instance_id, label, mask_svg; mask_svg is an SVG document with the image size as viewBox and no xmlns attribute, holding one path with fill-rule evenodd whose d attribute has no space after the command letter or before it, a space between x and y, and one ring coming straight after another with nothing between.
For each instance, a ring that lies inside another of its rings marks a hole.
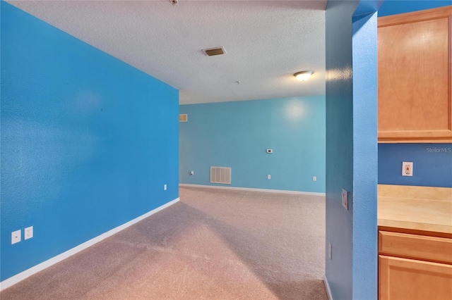
<instances>
[{"instance_id":1,"label":"light wooden cabinet door below the drawer, under the countertop","mask_svg":"<svg viewBox=\"0 0 452 300\"><path fill-rule=\"evenodd\" d=\"M452 299L452 265L379 256L379 299Z\"/></svg>"}]
</instances>

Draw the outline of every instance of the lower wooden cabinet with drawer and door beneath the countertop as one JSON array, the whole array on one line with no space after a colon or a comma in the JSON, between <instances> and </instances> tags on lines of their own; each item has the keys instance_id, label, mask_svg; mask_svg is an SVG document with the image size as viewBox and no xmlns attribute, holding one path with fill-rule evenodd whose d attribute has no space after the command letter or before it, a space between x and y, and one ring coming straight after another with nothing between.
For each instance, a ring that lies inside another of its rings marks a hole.
<instances>
[{"instance_id":1,"label":"lower wooden cabinet with drawer and door beneath the countertop","mask_svg":"<svg viewBox=\"0 0 452 300\"><path fill-rule=\"evenodd\" d=\"M452 239L380 230L379 299L452 300Z\"/></svg>"}]
</instances>

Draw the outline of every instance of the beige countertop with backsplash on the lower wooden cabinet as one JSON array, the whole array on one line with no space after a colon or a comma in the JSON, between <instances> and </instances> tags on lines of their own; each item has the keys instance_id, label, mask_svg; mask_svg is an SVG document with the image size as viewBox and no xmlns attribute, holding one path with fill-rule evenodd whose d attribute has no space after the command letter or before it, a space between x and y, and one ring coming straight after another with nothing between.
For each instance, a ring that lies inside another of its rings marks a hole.
<instances>
[{"instance_id":1,"label":"beige countertop with backsplash on the lower wooden cabinet","mask_svg":"<svg viewBox=\"0 0 452 300\"><path fill-rule=\"evenodd\" d=\"M379 185L378 225L452 234L452 188Z\"/></svg>"}]
</instances>

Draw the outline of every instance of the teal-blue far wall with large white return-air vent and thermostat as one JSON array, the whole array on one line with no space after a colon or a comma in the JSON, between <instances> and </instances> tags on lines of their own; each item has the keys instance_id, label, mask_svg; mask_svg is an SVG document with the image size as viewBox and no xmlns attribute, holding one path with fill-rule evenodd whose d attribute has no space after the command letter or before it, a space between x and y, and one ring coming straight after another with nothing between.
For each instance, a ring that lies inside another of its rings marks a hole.
<instances>
[{"instance_id":1,"label":"teal-blue far wall with large white return-air vent and thermostat","mask_svg":"<svg viewBox=\"0 0 452 300\"><path fill-rule=\"evenodd\" d=\"M182 105L179 112L189 120L179 123L181 183L214 185L212 165L232 168L227 186L325 192L325 96Z\"/></svg>"}]
</instances>

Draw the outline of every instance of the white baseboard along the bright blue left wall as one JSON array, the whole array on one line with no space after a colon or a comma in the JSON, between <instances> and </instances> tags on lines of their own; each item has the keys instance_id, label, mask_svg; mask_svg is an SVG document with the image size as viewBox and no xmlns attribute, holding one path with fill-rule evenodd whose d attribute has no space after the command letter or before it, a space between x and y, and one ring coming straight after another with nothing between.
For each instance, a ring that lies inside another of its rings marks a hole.
<instances>
[{"instance_id":1,"label":"white baseboard along the bright blue left wall","mask_svg":"<svg viewBox=\"0 0 452 300\"><path fill-rule=\"evenodd\" d=\"M54 265L55 263L59 263L60 261L63 261L64 259L68 258L69 256L73 256L74 254L87 249L90 246L93 246L94 244L102 241L102 239L106 239L107 237L110 237L114 235L117 232L120 232L121 230L126 229L127 227L138 223L139 221L148 218L148 216L153 215L154 213L157 213L158 211L161 211L164 208L167 208L168 206L171 206L172 204L175 204L177 201L179 201L179 198L176 198L172 201L169 201L167 204L163 204L162 206L159 206L157 208L154 208L152 211L148 211L148 213L145 213L144 215L140 215L137 218L134 218L133 220L130 220L127 223L124 223L123 225L119 225L118 227L114 227L112 230L109 230L107 232L102 233L102 235L98 235L97 237L94 237L93 239L88 240L87 242L84 242L83 244L80 244L78 246L73 247L72 249L69 249L68 251L63 252L62 254L59 254L57 256L54 256L52 258L49 258L47 261L43 261L42 263L35 265L32 268L29 268L28 270L25 270L23 272L18 273L17 275L14 275L13 277L9 277L8 279L0 282L0 291L11 287L12 285L16 285L16 283L24 280L27 277L30 277L31 275L34 275L41 270L44 270L45 268L49 268L49 266Z\"/></svg>"}]
</instances>

